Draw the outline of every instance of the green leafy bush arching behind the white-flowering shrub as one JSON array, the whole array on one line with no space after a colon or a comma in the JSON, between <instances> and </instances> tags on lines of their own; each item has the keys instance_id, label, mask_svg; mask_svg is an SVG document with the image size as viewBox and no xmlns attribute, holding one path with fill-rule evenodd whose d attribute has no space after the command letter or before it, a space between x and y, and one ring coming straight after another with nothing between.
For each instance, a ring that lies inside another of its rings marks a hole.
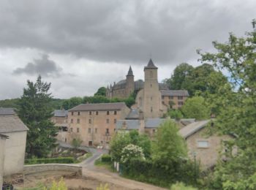
<instances>
[{"instance_id":1,"label":"green leafy bush arching behind the white-flowering shrub","mask_svg":"<svg viewBox=\"0 0 256 190\"><path fill-rule=\"evenodd\" d=\"M119 132L110 141L110 155L114 161L120 161L121 151L129 144L138 145L140 148L143 148L146 158L151 155L151 141L146 134L139 134L137 131L129 133Z\"/></svg>"}]
</instances>

